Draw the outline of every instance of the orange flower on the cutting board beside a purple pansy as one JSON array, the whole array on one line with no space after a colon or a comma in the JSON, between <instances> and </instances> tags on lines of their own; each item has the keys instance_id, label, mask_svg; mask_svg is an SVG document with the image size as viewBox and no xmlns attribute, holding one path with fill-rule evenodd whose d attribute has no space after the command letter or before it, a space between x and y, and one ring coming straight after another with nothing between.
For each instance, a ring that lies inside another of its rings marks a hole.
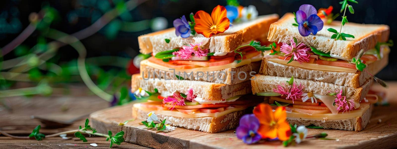
<instances>
[{"instance_id":1,"label":"orange flower on the cutting board beside a purple pansy","mask_svg":"<svg viewBox=\"0 0 397 149\"><path fill-rule=\"evenodd\" d=\"M279 106L273 112L269 104L261 103L254 108L254 115L259 120L258 134L262 135L262 139L275 139L276 137L281 141L289 139L291 128L285 121L287 117L285 107Z\"/></svg>"}]
</instances>

